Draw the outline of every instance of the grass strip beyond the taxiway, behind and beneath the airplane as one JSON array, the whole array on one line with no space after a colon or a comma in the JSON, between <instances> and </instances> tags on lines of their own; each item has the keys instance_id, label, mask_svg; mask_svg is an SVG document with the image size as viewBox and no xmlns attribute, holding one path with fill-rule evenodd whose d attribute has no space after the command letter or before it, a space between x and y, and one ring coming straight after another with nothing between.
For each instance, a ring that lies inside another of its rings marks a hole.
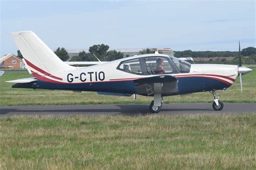
<instances>
[{"instance_id":1,"label":"grass strip beyond the taxiway, behind and beneath the airplane","mask_svg":"<svg viewBox=\"0 0 256 170\"><path fill-rule=\"evenodd\" d=\"M5 73L0 77L0 105L49 105L49 104L124 104L124 103L150 103L152 97L137 96L133 101L131 97L118 97L98 95L94 92L73 93L62 90L32 90L11 88L12 83L4 81L30 77L28 73ZM223 102L256 102L256 70L242 76L243 92L240 92L239 77L227 90L218 93ZM185 96L164 97L165 103L198 103L213 102L210 93L196 93Z\"/></svg>"}]
</instances>

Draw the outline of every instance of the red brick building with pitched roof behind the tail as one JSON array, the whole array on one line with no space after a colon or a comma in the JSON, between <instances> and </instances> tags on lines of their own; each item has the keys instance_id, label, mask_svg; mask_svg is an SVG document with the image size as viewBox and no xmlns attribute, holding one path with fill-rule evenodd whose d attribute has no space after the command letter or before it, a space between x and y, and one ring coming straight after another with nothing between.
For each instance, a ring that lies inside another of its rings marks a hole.
<instances>
[{"instance_id":1,"label":"red brick building with pitched roof behind the tail","mask_svg":"<svg viewBox=\"0 0 256 170\"><path fill-rule=\"evenodd\" d=\"M0 58L0 68L25 68L22 59L14 54L7 54Z\"/></svg>"}]
</instances>

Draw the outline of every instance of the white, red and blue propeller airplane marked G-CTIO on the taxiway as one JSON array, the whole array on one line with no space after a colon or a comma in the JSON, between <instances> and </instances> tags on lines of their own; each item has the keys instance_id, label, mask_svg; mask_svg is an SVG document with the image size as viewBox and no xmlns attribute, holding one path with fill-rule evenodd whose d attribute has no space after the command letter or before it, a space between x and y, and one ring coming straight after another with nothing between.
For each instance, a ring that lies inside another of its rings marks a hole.
<instances>
[{"instance_id":1,"label":"white, red and blue propeller airplane marked G-CTIO on the taxiway","mask_svg":"<svg viewBox=\"0 0 256 170\"><path fill-rule=\"evenodd\" d=\"M210 91L214 110L222 110L216 90L232 86L237 76L252 69L237 65L191 64L166 54L143 54L92 66L73 67L63 62L32 31L10 33L33 77L7 81L12 88L96 91L100 95L153 96L150 111L158 113L164 96ZM240 54L240 42L239 42ZM90 62L89 62L90 63Z\"/></svg>"}]
</instances>

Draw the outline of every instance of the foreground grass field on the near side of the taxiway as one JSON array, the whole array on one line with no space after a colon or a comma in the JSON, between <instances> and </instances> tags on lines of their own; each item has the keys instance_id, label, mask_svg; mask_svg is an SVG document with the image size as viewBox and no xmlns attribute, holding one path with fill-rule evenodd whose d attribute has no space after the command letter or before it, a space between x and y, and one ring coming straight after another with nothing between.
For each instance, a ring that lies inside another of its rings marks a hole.
<instances>
[{"instance_id":1,"label":"foreground grass field on the near side of the taxiway","mask_svg":"<svg viewBox=\"0 0 256 170\"><path fill-rule=\"evenodd\" d=\"M256 115L0 118L0 169L255 169Z\"/></svg>"}]
</instances>

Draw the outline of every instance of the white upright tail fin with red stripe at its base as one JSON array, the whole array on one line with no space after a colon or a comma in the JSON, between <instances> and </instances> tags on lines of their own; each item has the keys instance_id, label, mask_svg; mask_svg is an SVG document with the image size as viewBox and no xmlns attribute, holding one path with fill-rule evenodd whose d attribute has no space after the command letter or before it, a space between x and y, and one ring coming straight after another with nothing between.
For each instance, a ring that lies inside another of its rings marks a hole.
<instances>
[{"instance_id":1,"label":"white upright tail fin with red stripe at its base","mask_svg":"<svg viewBox=\"0 0 256 170\"><path fill-rule=\"evenodd\" d=\"M74 67L60 60L32 31L14 32L10 34L19 51L21 51L26 65L33 72L50 75L74 69Z\"/></svg>"}]
</instances>

